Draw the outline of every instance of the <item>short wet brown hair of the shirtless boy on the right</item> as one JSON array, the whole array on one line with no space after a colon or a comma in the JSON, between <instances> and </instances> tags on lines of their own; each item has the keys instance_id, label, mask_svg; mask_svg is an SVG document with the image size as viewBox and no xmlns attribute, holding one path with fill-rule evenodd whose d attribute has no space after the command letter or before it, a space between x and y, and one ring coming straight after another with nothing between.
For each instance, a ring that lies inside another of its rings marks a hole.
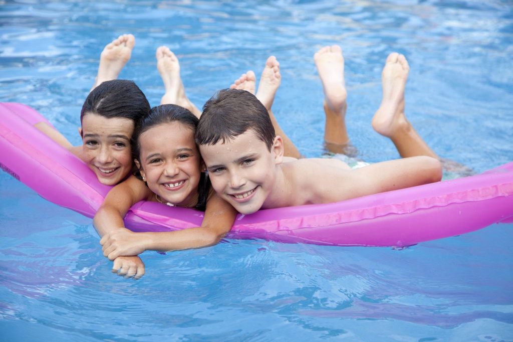
<instances>
[{"instance_id":1,"label":"short wet brown hair of the shirtless boy on the right","mask_svg":"<svg viewBox=\"0 0 513 342\"><path fill-rule=\"evenodd\" d=\"M269 151L275 132L269 112L250 92L223 89L215 93L203 106L201 120L196 129L196 144L226 143L251 129Z\"/></svg>"}]
</instances>

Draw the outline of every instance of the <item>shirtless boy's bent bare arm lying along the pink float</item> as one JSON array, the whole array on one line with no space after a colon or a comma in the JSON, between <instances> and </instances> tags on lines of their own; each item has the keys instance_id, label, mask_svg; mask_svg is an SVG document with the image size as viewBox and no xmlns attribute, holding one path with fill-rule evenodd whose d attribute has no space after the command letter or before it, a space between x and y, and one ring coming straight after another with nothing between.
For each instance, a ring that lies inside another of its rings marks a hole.
<instances>
[{"instance_id":1,"label":"shirtless boy's bent bare arm lying along the pink float","mask_svg":"<svg viewBox=\"0 0 513 342\"><path fill-rule=\"evenodd\" d=\"M340 171L339 171L340 172ZM330 172L332 173L332 172ZM438 182L440 161L431 157L390 160L330 175L322 181L319 203L343 201L411 186Z\"/></svg>"}]
</instances>

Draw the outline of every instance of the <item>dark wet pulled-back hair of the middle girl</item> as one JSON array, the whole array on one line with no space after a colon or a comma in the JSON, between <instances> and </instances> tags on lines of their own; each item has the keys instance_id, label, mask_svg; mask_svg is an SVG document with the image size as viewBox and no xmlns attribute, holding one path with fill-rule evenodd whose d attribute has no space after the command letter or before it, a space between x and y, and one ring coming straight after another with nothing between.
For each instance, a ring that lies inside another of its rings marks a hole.
<instances>
[{"instance_id":1,"label":"dark wet pulled-back hair of the middle girl","mask_svg":"<svg viewBox=\"0 0 513 342\"><path fill-rule=\"evenodd\" d=\"M190 128L193 133L195 133L196 127L198 127L199 119L196 118L188 109L177 105L165 104L151 108L148 114L143 117L143 119L140 120L139 123L135 126L135 130L132 135L133 158L141 160L141 145L139 143L139 137L141 134L143 134L151 127L175 121L180 122L181 124ZM142 180L139 170L137 170L135 176ZM200 183L198 185L198 204L196 204L194 207L195 209L205 211L209 190L210 179L205 175L205 173L202 172L200 176Z\"/></svg>"}]
</instances>

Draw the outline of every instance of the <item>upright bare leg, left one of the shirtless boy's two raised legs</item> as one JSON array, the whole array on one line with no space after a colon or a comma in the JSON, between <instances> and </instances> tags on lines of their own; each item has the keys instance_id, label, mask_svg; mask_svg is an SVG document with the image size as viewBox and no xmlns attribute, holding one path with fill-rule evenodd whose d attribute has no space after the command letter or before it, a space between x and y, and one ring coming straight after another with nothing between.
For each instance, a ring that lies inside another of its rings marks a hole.
<instances>
[{"instance_id":1,"label":"upright bare leg, left one of the shirtless boy's two raised legs","mask_svg":"<svg viewBox=\"0 0 513 342\"><path fill-rule=\"evenodd\" d=\"M324 89L326 125L324 140L330 152L344 153L349 136L346 128L347 90L344 56L338 45L325 46L313 55Z\"/></svg>"}]
</instances>

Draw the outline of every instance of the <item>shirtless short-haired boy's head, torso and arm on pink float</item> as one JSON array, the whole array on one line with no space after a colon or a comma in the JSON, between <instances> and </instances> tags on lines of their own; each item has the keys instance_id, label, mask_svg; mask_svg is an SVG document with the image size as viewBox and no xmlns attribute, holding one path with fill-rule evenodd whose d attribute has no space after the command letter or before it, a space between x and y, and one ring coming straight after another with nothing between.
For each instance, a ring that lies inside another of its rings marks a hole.
<instances>
[{"instance_id":1,"label":"shirtless short-haired boy's head, torso and arm on pink float","mask_svg":"<svg viewBox=\"0 0 513 342\"><path fill-rule=\"evenodd\" d=\"M335 159L284 157L267 109L238 89L221 90L207 101L196 143L215 192L241 214L343 201L442 177L440 162L426 156L357 169Z\"/></svg>"}]
</instances>

